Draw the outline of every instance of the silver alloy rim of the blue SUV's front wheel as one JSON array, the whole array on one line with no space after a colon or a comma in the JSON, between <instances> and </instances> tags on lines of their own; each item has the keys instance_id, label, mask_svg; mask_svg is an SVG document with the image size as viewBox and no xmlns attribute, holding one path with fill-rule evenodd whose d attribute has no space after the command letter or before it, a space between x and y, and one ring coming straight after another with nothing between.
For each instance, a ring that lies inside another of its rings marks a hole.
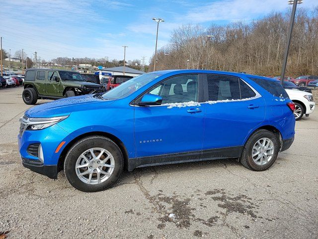
<instances>
[{"instance_id":1,"label":"silver alloy rim of the blue SUV's front wheel","mask_svg":"<svg viewBox=\"0 0 318 239\"><path fill-rule=\"evenodd\" d=\"M79 179L87 184L105 182L114 172L113 155L104 148L90 148L78 158L75 170Z\"/></svg>"}]
</instances>

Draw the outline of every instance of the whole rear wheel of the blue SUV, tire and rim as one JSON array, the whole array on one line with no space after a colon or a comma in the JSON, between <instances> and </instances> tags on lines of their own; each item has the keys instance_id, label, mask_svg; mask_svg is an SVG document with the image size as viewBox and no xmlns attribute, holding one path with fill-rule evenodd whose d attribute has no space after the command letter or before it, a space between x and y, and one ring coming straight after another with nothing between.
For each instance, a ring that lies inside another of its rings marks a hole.
<instances>
[{"instance_id":1,"label":"whole rear wheel of the blue SUV, tire and rim","mask_svg":"<svg viewBox=\"0 0 318 239\"><path fill-rule=\"evenodd\" d=\"M254 171L264 171L275 162L280 143L277 136L266 129L255 131L247 140L241 164Z\"/></svg>"}]
</instances>

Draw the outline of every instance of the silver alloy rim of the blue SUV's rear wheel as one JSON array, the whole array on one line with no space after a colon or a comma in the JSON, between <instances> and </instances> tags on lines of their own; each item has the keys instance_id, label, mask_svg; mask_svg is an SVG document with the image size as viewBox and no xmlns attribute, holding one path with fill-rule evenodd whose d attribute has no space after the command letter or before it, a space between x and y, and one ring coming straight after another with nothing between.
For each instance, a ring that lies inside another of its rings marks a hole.
<instances>
[{"instance_id":1,"label":"silver alloy rim of the blue SUV's rear wheel","mask_svg":"<svg viewBox=\"0 0 318 239\"><path fill-rule=\"evenodd\" d=\"M274 143L269 138L261 138L256 141L252 148L252 158L257 165L268 163L274 153Z\"/></svg>"}]
</instances>

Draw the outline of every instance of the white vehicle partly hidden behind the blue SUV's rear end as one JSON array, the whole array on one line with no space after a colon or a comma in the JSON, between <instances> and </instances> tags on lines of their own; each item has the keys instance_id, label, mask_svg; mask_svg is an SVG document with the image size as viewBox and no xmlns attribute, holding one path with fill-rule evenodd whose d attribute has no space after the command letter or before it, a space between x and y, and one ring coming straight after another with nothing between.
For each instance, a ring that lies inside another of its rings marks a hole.
<instances>
[{"instance_id":1,"label":"white vehicle partly hidden behind the blue SUV's rear end","mask_svg":"<svg viewBox=\"0 0 318 239\"><path fill-rule=\"evenodd\" d=\"M304 114L309 116L314 112L316 103L313 94L300 90L285 90L289 98L295 103L294 116L296 120L302 119Z\"/></svg>"}]
</instances>

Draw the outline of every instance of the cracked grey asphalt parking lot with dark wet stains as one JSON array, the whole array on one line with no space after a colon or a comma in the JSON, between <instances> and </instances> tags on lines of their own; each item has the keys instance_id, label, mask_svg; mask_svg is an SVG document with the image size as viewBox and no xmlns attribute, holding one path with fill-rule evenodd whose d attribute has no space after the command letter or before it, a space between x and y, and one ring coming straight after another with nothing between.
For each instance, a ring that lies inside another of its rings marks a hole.
<instances>
[{"instance_id":1,"label":"cracked grey asphalt parking lot with dark wet stains","mask_svg":"<svg viewBox=\"0 0 318 239\"><path fill-rule=\"evenodd\" d=\"M0 89L0 232L9 238L318 237L317 111L296 122L294 144L267 171L236 160L165 165L83 193L64 172L54 181L22 167L21 94Z\"/></svg>"}]
</instances>

